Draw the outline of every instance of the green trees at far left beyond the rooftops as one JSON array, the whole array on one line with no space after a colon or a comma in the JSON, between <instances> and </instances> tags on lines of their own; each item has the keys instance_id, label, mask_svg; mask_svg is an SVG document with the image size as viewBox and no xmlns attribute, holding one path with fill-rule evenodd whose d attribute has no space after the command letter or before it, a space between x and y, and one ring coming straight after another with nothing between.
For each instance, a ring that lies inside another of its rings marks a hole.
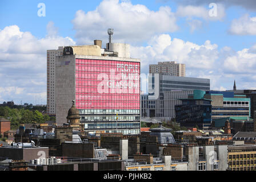
<instances>
[{"instance_id":1,"label":"green trees at far left beyond the rooftops","mask_svg":"<svg viewBox=\"0 0 256 182\"><path fill-rule=\"evenodd\" d=\"M21 123L44 123L46 121L55 121L55 117L49 117L38 110L30 109L11 109L8 106L0 107L0 117L11 121L11 129L18 129Z\"/></svg>"}]
</instances>

